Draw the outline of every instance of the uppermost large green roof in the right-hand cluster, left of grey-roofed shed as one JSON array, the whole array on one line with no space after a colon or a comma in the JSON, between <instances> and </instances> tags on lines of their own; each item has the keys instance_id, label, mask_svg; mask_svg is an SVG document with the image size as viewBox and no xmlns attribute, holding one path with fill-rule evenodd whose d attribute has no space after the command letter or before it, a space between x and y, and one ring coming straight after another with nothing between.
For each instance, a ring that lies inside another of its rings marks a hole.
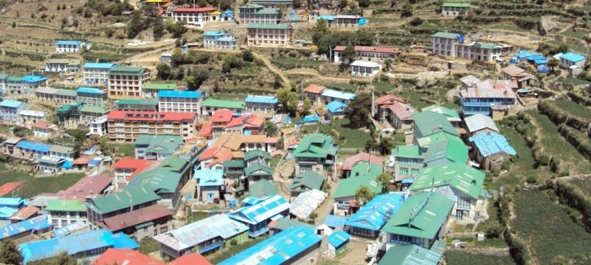
<instances>
[{"instance_id":1,"label":"uppermost large green roof in the right-hand cluster, left of grey-roofed shed","mask_svg":"<svg viewBox=\"0 0 591 265\"><path fill-rule=\"evenodd\" d=\"M448 132L451 135L460 136L460 132L451 125L444 114L432 111L413 113L414 130L421 132L421 137L433 135L437 132Z\"/></svg>"}]
</instances>

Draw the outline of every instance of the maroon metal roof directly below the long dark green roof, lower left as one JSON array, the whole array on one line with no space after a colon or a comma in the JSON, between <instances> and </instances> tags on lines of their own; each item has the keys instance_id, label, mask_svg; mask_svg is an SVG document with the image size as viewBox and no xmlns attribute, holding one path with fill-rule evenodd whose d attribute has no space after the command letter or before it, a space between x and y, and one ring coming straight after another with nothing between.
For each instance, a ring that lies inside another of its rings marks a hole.
<instances>
[{"instance_id":1,"label":"maroon metal roof directly below the long dark green roof, lower left","mask_svg":"<svg viewBox=\"0 0 591 265\"><path fill-rule=\"evenodd\" d=\"M168 210L166 206L157 204L104 219L102 223L99 223L99 226L115 232L165 216L172 216L172 214L174 213Z\"/></svg>"}]
</instances>

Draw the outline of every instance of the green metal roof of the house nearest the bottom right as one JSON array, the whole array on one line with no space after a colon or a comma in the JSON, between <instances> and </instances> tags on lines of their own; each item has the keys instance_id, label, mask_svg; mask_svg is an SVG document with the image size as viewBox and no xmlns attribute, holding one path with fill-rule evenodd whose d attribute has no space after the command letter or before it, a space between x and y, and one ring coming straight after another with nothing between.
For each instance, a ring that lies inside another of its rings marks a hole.
<instances>
[{"instance_id":1,"label":"green metal roof of the house nearest the bottom right","mask_svg":"<svg viewBox=\"0 0 591 265\"><path fill-rule=\"evenodd\" d=\"M382 232L434 239L453 208L453 200L432 192L408 197Z\"/></svg>"}]
</instances>

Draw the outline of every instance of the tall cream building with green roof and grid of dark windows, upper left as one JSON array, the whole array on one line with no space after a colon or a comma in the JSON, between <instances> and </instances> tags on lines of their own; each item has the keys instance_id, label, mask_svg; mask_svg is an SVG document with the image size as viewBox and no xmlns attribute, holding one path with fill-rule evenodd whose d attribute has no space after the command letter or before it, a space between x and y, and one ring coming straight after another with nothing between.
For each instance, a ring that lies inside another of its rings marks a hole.
<instances>
[{"instance_id":1,"label":"tall cream building with green roof and grid of dark windows, upper left","mask_svg":"<svg viewBox=\"0 0 591 265\"><path fill-rule=\"evenodd\" d=\"M141 98L142 87L152 79L152 71L144 67L113 67L108 71L108 96Z\"/></svg>"}]
</instances>

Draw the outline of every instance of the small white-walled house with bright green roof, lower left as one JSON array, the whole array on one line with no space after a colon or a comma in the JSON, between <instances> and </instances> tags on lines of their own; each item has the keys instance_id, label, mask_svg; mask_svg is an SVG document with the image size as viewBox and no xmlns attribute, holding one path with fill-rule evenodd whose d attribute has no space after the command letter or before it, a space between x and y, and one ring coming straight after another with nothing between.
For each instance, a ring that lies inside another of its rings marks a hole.
<instances>
[{"instance_id":1,"label":"small white-walled house with bright green roof, lower left","mask_svg":"<svg viewBox=\"0 0 591 265\"><path fill-rule=\"evenodd\" d=\"M44 210L47 212L47 221L56 229L88 220L86 205L81 200L49 200Z\"/></svg>"}]
</instances>

